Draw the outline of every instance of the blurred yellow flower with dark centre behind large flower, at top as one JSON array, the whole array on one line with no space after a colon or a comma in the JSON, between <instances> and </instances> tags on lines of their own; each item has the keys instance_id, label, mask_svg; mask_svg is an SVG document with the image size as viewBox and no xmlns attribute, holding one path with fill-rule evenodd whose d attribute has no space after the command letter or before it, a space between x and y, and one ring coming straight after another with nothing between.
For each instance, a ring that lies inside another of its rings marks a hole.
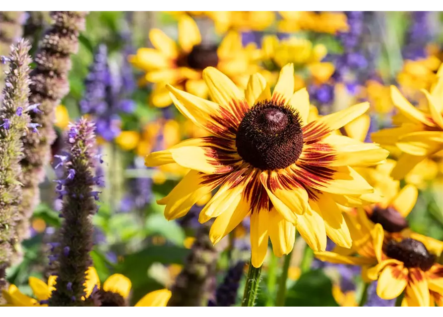
<instances>
[{"instance_id":1,"label":"blurred yellow flower with dark centre behind large flower, at top","mask_svg":"<svg viewBox=\"0 0 443 317\"><path fill-rule=\"evenodd\" d=\"M160 29L152 29L149 39L154 48L138 49L129 61L146 72L146 80L155 83L151 93L154 106L172 104L165 84L184 89L200 98L208 97L207 86L202 80L202 70L214 66L238 85L245 87L249 74L258 70L252 63L250 52L242 46L241 35L229 32L220 45L204 45L195 21L181 15L178 22L178 45Z\"/></svg>"}]
</instances>

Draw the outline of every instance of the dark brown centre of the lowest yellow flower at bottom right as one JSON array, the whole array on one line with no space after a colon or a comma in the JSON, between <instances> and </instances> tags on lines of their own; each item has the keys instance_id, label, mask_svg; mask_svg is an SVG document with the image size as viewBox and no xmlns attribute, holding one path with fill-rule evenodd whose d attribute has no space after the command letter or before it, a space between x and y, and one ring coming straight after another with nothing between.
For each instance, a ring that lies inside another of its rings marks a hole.
<instances>
[{"instance_id":1,"label":"dark brown centre of the lowest yellow flower at bottom right","mask_svg":"<svg viewBox=\"0 0 443 317\"><path fill-rule=\"evenodd\" d=\"M424 271L430 269L437 259L423 243L411 238L400 242L390 240L386 245L386 255L403 262L405 267L418 267Z\"/></svg>"}]
</instances>

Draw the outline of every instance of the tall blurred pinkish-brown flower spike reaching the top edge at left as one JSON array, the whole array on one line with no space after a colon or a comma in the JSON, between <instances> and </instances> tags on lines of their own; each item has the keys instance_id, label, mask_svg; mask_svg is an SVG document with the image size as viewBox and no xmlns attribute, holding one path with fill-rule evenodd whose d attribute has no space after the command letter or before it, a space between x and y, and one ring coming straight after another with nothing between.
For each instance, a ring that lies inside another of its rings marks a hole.
<instances>
[{"instance_id":1,"label":"tall blurred pinkish-brown flower spike reaching the top edge at left","mask_svg":"<svg viewBox=\"0 0 443 317\"><path fill-rule=\"evenodd\" d=\"M78 35L85 28L88 12L53 11L53 25L46 31L35 55L36 67L31 72L31 105L40 104L40 111L31 113L39 133L23 137L25 157L23 168L23 201L20 207L18 232L22 239L29 235L29 217L39 203L38 185L44 179L44 166L51 155L51 144L56 138L54 109L69 92L68 72L70 54L78 51Z\"/></svg>"}]
</instances>

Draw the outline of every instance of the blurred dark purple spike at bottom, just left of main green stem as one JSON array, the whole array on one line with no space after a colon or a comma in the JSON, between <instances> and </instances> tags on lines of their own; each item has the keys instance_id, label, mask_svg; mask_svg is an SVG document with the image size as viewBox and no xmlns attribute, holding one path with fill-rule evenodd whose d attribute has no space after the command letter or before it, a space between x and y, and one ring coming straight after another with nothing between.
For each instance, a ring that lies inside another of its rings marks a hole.
<instances>
[{"instance_id":1,"label":"blurred dark purple spike at bottom, just left of main green stem","mask_svg":"<svg viewBox=\"0 0 443 317\"><path fill-rule=\"evenodd\" d=\"M240 261L228 269L223 283L217 287L215 292L215 303L210 303L209 307L229 308L235 304L245 264Z\"/></svg>"}]
</instances>

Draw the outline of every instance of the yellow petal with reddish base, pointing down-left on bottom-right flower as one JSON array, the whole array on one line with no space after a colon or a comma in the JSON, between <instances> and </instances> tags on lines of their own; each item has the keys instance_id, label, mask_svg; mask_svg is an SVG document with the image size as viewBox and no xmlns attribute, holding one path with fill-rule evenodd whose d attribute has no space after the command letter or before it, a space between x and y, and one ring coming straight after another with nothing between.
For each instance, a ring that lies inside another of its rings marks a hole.
<instances>
[{"instance_id":1,"label":"yellow petal with reddish base, pointing down-left on bottom-right flower","mask_svg":"<svg viewBox=\"0 0 443 317\"><path fill-rule=\"evenodd\" d=\"M380 274L377 295L386 300L396 298L400 296L407 284L408 269L402 265L388 265Z\"/></svg>"}]
</instances>

